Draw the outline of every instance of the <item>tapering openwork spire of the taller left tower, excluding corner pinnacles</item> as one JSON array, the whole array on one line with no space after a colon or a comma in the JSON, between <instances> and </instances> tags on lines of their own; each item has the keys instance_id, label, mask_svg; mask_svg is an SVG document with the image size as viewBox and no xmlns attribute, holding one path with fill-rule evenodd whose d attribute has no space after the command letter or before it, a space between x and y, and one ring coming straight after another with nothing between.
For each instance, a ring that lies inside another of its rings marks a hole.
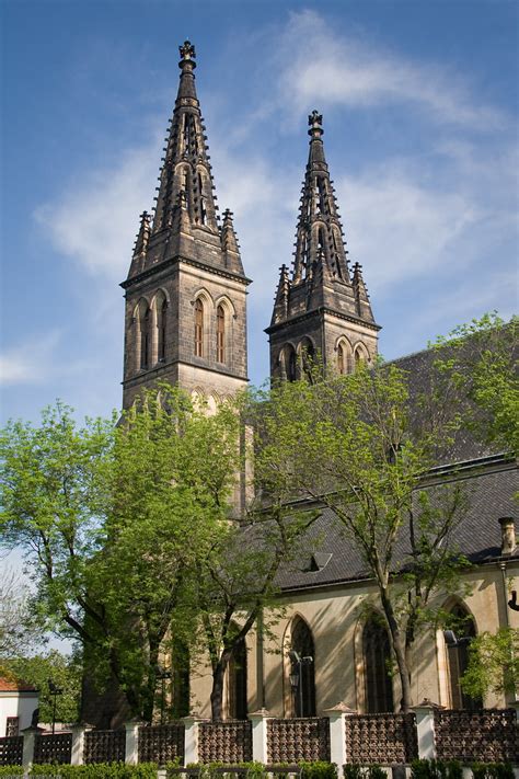
<instances>
[{"instance_id":1,"label":"tapering openwork spire of the taller left tower, excluding corner pinnacles","mask_svg":"<svg viewBox=\"0 0 519 779\"><path fill-rule=\"evenodd\" d=\"M195 47L186 41L178 50L181 79L165 139L152 234L170 227L170 215L176 206L181 190L186 193L187 214L193 227L218 234L207 136L195 85Z\"/></svg>"}]
</instances>

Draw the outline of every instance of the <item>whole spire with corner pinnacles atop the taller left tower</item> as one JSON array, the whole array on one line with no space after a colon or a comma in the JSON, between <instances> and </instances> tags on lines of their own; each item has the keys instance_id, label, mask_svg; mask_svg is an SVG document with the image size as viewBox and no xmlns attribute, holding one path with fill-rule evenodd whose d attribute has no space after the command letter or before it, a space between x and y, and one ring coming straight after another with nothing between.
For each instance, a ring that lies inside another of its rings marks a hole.
<instances>
[{"instance_id":1,"label":"whole spire with corner pinnacles atop the taller left tower","mask_svg":"<svg viewBox=\"0 0 519 779\"><path fill-rule=\"evenodd\" d=\"M174 255L243 276L232 214L220 226L200 104L196 94L195 47L180 50L181 77L163 148L153 217L145 211L128 278Z\"/></svg>"}]
</instances>

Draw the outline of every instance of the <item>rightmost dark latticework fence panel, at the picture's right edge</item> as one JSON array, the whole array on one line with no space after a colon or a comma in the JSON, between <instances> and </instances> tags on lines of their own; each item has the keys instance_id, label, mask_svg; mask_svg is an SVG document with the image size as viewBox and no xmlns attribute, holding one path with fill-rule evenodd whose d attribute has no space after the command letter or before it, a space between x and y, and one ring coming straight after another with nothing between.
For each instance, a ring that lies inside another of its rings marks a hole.
<instances>
[{"instance_id":1,"label":"rightmost dark latticework fence panel, at the picture's right edge","mask_svg":"<svg viewBox=\"0 0 519 779\"><path fill-rule=\"evenodd\" d=\"M519 760L519 730L512 709L435 711L435 735L440 760Z\"/></svg>"}]
</instances>

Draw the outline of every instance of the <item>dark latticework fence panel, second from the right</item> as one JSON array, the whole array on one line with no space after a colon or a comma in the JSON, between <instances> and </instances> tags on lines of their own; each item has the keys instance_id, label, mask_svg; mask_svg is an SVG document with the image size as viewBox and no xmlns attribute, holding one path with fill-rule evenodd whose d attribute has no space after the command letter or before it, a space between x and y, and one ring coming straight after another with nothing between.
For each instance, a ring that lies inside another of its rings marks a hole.
<instances>
[{"instance_id":1,"label":"dark latticework fence panel, second from the right","mask_svg":"<svg viewBox=\"0 0 519 779\"><path fill-rule=\"evenodd\" d=\"M414 714L346 717L348 763L411 763L418 757Z\"/></svg>"}]
</instances>

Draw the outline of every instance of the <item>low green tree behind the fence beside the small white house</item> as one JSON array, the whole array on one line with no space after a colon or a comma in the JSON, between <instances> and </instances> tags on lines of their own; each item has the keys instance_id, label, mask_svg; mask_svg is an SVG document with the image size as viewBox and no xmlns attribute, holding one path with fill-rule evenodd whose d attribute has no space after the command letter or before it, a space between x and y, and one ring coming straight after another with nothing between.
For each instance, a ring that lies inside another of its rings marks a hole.
<instances>
[{"instance_id":1,"label":"low green tree behind the fence beside the small white house","mask_svg":"<svg viewBox=\"0 0 519 779\"><path fill-rule=\"evenodd\" d=\"M57 650L50 650L31 657L0 660L0 672L8 678L28 683L38 690L39 722L53 721L54 697L49 680L61 690L56 696L56 721L79 721L82 666L77 655L64 655Z\"/></svg>"}]
</instances>

